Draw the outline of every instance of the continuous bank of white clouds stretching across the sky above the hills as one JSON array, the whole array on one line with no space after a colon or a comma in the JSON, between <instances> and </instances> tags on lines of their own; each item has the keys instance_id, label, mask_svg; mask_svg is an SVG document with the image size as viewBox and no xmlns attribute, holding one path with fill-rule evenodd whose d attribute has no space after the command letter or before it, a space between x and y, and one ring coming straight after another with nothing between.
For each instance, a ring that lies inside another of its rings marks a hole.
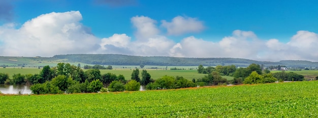
<instances>
[{"instance_id":1,"label":"continuous bank of white clouds stretching across the sky above the hills","mask_svg":"<svg viewBox=\"0 0 318 118\"><path fill-rule=\"evenodd\" d=\"M134 16L134 36L113 34L94 36L80 23L79 11L48 13L25 22L0 26L0 56L45 56L58 54L125 54L138 56L231 57L260 61L317 61L318 34L300 30L287 43L279 39L261 40L252 31L234 30L218 42L195 36L174 42L167 35L200 32L203 22L177 16L161 24L146 16ZM188 24L188 26L184 26ZM158 26L167 29L161 31Z\"/></svg>"}]
</instances>

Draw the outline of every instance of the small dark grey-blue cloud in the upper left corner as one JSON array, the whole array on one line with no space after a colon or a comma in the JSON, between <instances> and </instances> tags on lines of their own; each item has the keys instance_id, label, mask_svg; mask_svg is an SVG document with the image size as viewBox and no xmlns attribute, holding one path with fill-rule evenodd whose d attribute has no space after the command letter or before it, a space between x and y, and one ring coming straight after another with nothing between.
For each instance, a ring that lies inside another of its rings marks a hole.
<instances>
[{"instance_id":1,"label":"small dark grey-blue cloud in the upper left corner","mask_svg":"<svg viewBox=\"0 0 318 118\"><path fill-rule=\"evenodd\" d=\"M0 1L0 21L11 21L13 18L13 6L7 0Z\"/></svg>"}]
</instances>

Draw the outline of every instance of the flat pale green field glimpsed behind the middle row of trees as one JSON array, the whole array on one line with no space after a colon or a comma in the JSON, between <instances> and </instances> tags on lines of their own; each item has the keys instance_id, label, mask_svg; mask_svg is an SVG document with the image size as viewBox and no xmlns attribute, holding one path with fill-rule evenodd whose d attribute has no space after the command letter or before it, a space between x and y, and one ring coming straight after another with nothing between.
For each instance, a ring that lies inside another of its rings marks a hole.
<instances>
[{"instance_id":1,"label":"flat pale green field glimpsed behind the middle row of trees","mask_svg":"<svg viewBox=\"0 0 318 118\"><path fill-rule=\"evenodd\" d=\"M40 73L41 69L38 68L0 68L1 73L8 73L9 77L12 78L12 75L14 73L21 73L21 74L36 74ZM85 71L85 70L84 70ZM126 80L130 80L131 74L133 72L133 69L127 69L127 68L114 68L112 70L107 69L101 69L101 74L105 73L114 73L116 75L122 74L125 76ZM141 73L142 69L139 69L139 72ZM183 76L187 80L192 80L193 78L202 78L206 74L200 74L197 72L197 70L165 70L165 69L147 69L147 72L151 75L151 78L156 80L157 78L160 78L164 75L168 76ZM227 78L228 80L233 80L233 77L231 76L223 76Z\"/></svg>"}]
</instances>

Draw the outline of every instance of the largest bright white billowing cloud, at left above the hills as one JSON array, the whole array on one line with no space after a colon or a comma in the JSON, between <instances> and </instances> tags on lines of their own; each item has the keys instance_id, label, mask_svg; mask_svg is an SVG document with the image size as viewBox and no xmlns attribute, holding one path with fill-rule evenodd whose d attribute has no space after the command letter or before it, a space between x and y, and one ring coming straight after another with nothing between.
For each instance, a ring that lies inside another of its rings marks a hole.
<instances>
[{"instance_id":1,"label":"largest bright white billowing cloud, at left above the hills","mask_svg":"<svg viewBox=\"0 0 318 118\"><path fill-rule=\"evenodd\" d=\"M53 56L90 53L99 48L98 38L79 21L79 11L49 13L25 22L21 28L1 28L2 55Z\"/></svg>"}]
</instances>

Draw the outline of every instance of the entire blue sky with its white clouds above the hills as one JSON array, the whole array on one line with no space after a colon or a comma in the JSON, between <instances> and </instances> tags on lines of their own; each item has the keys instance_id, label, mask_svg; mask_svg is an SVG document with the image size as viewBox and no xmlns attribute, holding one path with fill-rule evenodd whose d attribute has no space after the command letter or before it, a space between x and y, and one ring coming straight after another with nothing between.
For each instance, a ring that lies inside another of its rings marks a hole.
<instances>
[{"instance_id":1,"label":"entire blue sky with its white clouds above the hills","mask_svg":"<svg viewBox=\"0 0 318 118\"><path fill-rule=\"evenodd\" d=\"M310 51L318 44L317 5L318 1L294 0L4 0L0 2L0 55L111 53L318 61L318 53ZM52 13L59 15L50 17ZM50 18L54 22L43 23ZM71 29L80 28L58 32L70 24L75 24ZM21 40L24 36L27 39ZM61 45L55 44L57 38ZM77 47L85 43L88 48ZM46 51L41 44L56 49Z\"/></svg>"}]
</instances>

